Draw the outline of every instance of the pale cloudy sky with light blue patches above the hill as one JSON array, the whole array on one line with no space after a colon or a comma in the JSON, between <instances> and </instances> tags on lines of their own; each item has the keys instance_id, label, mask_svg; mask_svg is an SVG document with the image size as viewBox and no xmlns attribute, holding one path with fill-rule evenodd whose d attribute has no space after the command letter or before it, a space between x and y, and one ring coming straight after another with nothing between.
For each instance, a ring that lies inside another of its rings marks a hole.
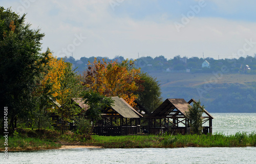
<instances>
[{"instance_id":1,"label":"pale cloudy sky with light blue patches above the hill","mask_svg":"<svg viewBox=\"0 0 256 164\"><path fill-rule=\"evenodd\" d=\"M256 54L253 0L1 0L45 33L57 57L137 59Z\"/></svg>"}]
</instances>

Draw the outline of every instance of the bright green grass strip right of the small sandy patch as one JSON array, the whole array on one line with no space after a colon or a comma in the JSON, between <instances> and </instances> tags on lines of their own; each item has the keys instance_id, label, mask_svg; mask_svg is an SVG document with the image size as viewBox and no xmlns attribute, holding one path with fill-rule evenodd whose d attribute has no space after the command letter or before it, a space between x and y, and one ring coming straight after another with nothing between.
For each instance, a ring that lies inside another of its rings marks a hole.
<instances>
[{"instance_id":1,"label":"bright green grass strip right of the small sandy patch","mask_svg":"<svg viewBox=\"0 0 256 164\"><path fill-rule=\"evenodd\" d=\"M256 133L224 135L127 135L98 136L91 141L104 148L180 148L180 147L247 147L256 146Z\"/></svg>"}]
</instances>

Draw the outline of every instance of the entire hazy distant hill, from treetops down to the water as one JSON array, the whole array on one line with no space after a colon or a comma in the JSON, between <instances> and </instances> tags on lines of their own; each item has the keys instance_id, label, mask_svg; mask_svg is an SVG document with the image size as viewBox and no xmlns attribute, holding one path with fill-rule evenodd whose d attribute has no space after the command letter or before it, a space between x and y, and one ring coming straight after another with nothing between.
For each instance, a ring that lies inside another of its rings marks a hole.
<instances>
[{"instance_id":1,"label":"entire hazy distant hill, from treetops down to the water","mask_svg":"<svg viewBox=\"0 0 256 164\"><path fill-rule=\"evenodd\" d=\"M97 57L98 60L102 58ZM88 61L94 61L94 57L64 59L72 63L73 68L77 67L80 74L87 69ZM107 62L111 60L121 62L124 58L105 58ZM205 61L208 67L203 67ZM215 60L176 56L167 60L164 56L147 56L137 59L135 66L160 81L164 99L200 99L209 112L256 112L255 57Z\"/></svg>"}]
</instances>

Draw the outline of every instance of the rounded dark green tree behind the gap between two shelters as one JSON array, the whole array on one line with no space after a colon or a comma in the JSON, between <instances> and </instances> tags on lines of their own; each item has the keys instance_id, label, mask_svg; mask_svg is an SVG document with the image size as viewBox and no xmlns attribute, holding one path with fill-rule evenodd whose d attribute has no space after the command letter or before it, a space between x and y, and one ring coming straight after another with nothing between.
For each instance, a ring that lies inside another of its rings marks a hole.
<instances>
[{"instance_id":1,"label":"rounded dark green tree behind the gap between two shelters","mask_svg":"<svg viewBox=\"0 0 256 164\"><path fill-rule=\"evenodd\" d=\"M138 102L152 112L162 103L159 81L147 73L140 73L140 80L143 89L138 92Z\"/></svg>"}]
</instances>

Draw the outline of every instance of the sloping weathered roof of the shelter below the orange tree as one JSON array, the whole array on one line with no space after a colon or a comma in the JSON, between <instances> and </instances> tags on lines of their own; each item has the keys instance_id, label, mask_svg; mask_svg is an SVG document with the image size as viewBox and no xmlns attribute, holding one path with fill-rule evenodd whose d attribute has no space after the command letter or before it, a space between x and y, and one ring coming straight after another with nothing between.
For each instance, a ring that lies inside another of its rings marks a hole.
<instances>
[{"instance_id":1,"label":"sloping weathered roof of the shelter below the orange tree","mask_svg":"<svg viewBox=\"0 0 256 164\"><path fill-rule=\"evenodd\" d=\"M122 115L124 118L142 118L143 116L137 112L131 105L125 100L119 97L111 97L114 104L111 106L116 112Z\"/></svg>"}]
</instances>

